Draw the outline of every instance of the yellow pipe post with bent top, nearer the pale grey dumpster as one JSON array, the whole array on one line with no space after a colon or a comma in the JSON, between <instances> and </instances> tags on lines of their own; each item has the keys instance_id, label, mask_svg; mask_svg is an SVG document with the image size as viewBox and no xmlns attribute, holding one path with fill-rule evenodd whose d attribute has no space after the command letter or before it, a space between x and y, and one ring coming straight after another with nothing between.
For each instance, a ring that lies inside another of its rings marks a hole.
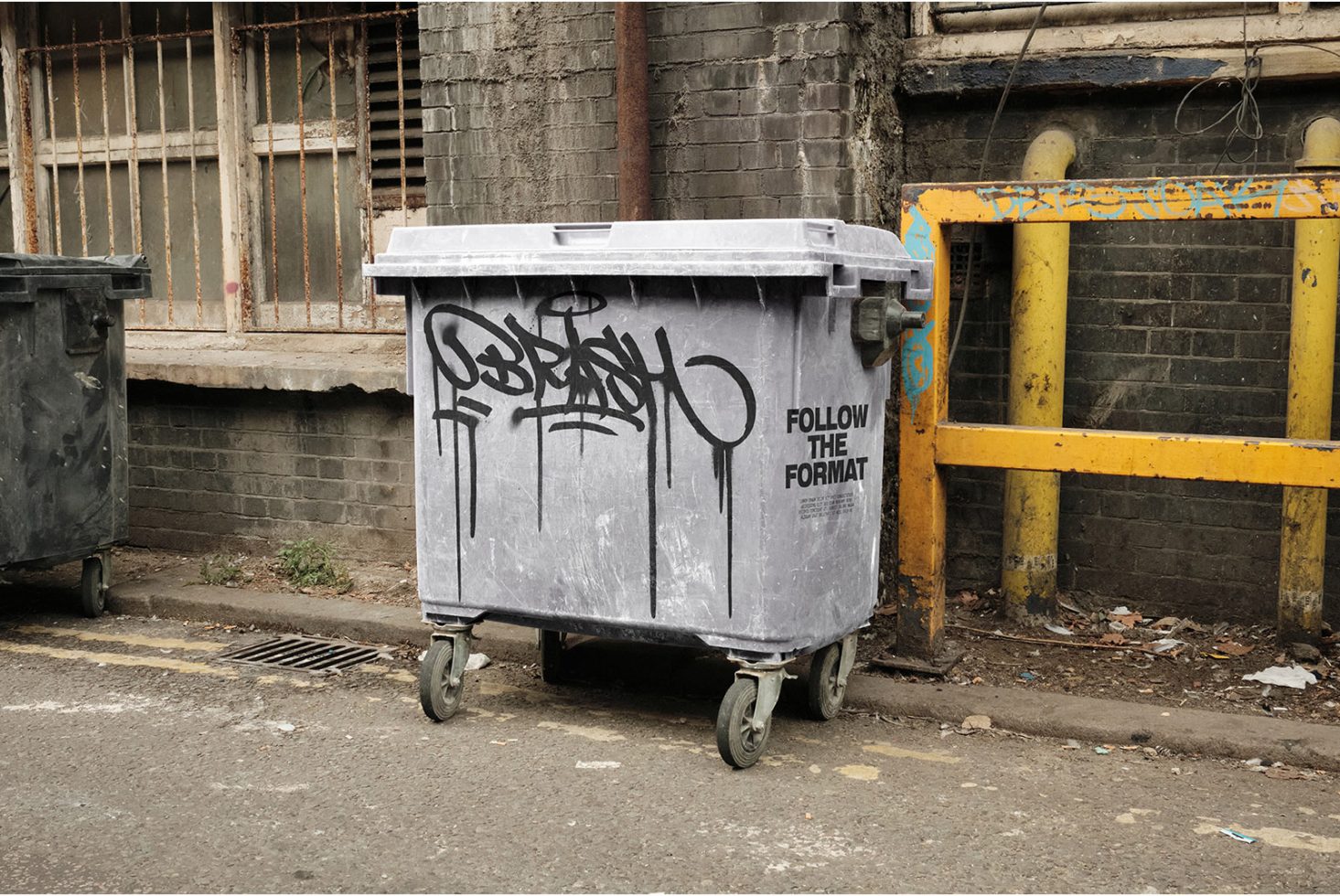
<instances>
[{"instance_id":1,"label":"yellow pipe post with bent top, nearer the pale grey dumpster","mask_svg":"<svg viewBox=\"0 0 1340 896\"><path fill-rule=\"evenodd\" d=\"M1061 130L1038 134L1024 155L1025 181L1060 181L1075 161ZM1071 225L1014 225L1014 300L1010 309L1009 411L1012 426L1060 426L1065 384L1065 296ZM1016 620L1056 611L1059 473L1005 471L1001 591Z\"/></svg>"}]
</instances>

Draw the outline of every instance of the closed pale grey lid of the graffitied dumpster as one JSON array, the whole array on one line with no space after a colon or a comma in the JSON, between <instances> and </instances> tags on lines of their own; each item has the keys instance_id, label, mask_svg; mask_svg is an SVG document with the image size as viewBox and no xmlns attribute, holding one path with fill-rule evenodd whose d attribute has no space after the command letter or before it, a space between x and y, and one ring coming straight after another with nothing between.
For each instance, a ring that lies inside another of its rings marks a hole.
<instances>
[{"instance_id":1,"label":"closed pale grey lid of the graffitied dumpster","mask_svg":"<svg viewBox=\"0 0 1340 896\"><path fill-rule=\"evenodd\" d=\"M892 233L827 218L397 228L371 277L831 276L907 280L926 263Z\"/></svg>"}]
</instances>

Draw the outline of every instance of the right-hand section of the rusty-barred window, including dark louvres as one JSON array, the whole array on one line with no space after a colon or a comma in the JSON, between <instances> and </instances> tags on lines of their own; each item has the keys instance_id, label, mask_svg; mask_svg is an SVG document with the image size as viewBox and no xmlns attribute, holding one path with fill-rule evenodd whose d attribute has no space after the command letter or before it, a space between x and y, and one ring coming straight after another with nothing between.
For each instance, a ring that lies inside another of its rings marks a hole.
<instances>
[{"instance_id":1,"label":"right-hand section of the rusty-barred window, including dark louvres","mask_svg":"<svg viewBox=\"0 0 1340 896\"><path fill-rule=\"evenodd\" d=\"M355 230L362 244L359 257L371 260L378 238L385 238L390 229L386 214L395 214L394 222L403 225L419 218L423 209L417 8L401 4L371 8L362 4L356 12L339 15L334 4L327 3L324 15L303 16L307 8L307 4L296 4L289 13L292 17L272 20L271 8L265 7L260 21L236 25L239 39L259 50L255 90L264 102L256 104L256 111L264 119L255 123L255 133L263 139L259 147L253 142L252 150L265 171L267 194L263 208L253 209L256 242L249 246L253 254L265 260L265 283L253 283L257 300L244 325L281 331L399 329L399 300L379 303L370 284L362 277L355 280L347 276L344 264L346 244L355 238ZM378 29L390 36L391 52L374 59L373 44ZM338 38L340 31L343 38ZM406 50L410 46L411 59ZM316 52L316 63L311 63L310 51ZM288 80L287 64L293 67L291 98L281 87ZM336 76L342 64L348 66L344 71L351 75L351 84L340 83ZM378 66L385 66L385 72ZM390 83L381 90L374 88L374 75L386 74L391 76ZM324 122L308 107L308 94L316 78L322 78L328 91ZM342 114L340 103L348 99L355 100L354 111ZM391 117L378 118L386 104L393 110ZM382 131L391 130L390 137L394 138L393 158L385 159L397 167L394 194L378 189L382 186L378 163L383 161L386 149L374 143L377 125ZM314 167L320 158L315 153L322 150L328 150L328 169L326 165ZM291 163L293 155L296 185L283 174L285 159ZM358 212L354 216L346 214L348 209L342 202L340 192L340 183L347 182L350 162L358 173L355 177L360 177L364 185L359 196L343 197L344 202L354 200L352 206ZM330 177L330 208L318 202L316 194L308 190L312 177ZM284 217L281 225L281 216L293 217ZM352 230L346 232L346 228ZM284 250L281 240L288 234L302 240L300 256ZM314 261L319 264L322 246L324 250L334 248L334 272L314 267ZM347 284L354 281L359 285L351 288L362 293L362 304L356 309L348 304L346 293Z\"/></svg>"}]
</instances>

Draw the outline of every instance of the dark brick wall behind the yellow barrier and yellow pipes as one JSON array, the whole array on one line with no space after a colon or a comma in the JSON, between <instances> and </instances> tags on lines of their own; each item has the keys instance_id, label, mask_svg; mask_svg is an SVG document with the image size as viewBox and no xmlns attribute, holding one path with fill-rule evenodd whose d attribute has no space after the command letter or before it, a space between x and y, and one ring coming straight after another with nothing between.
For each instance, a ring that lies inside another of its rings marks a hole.
<instances>
[{"instance_id":1,"label":"dark brick wall behind the yellow barrier and yellow pipes","mask_svg":"<svg viewBox=\"0 0 1340 896\"><path fill-rule=\"evenodd\" d=\"M1076 134L1077 178L1207 175L1223 130L1179 135L1172 117L1182 92L1017 94L997 129L988 178L1017 177L1029 141L1051 125ZM1265 84L1257 96L1266 131L1257 165L1225 161L1221 174L1288 171L1306 122L1340 113L1321 90ZM1189 104L1183 127L1209 125L1235 98L1206 91ZM994 96L903 100L907 181L973 179L994 104ZM1072 226L1071 238L1065 426L1284 434L1288 224L1093 224ZM951 413L1002 422L1010 233L985 228L982 240L985 264L950 378ZM994 471L950 477L951 587L1000 580L1001 482ZM1061 488L1064 587L1170 611L1273 615L1281 489L1080 475L1063 475ZM1335 509L1328 548L1335 579Z\"/></svg>"}]
</instances>

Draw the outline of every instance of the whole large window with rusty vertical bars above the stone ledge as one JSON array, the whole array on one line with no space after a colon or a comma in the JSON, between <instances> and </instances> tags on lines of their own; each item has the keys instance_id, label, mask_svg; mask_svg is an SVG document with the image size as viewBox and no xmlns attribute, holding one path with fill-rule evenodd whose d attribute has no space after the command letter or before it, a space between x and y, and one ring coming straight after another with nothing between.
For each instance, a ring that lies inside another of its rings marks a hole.
<instances>
[{"instance_id":1,"label":"whole large window with rusty vertical bars above the stone ledge","mask_svg":"<svg viewBox=\"0 0 1340 896\"><path fill-rule=\"evenodd\" d=\"M306 8L307 4L293 7L287 20L243 23L233 28L233 52L247 48L252 59L251 47L259 44L261 52L255 58L257 63L264 59L263 78L247 78L237 84L241 90L245 83L252 91L252 99L247 100L249 113L241 122L244 153L251 153L255 161L253 166L243 166L248 171L247 182L253 183L248 189L256 189L257 198L268 192L269 205L269 220L264 221L264 200L252 204L253 226L245 229L249 236L243 238L255 242L239 246L247 272L243 277L247 283L237 289L240 296L214 295L206 287L222 285L213 271L206 271L206 267L221 264L214 257L218 250L212 249L216 245L213 234L221 222L209 222L206 236L205 218L212 209L204 210L205 197L213 201L216 196L214 178L221 159L217 126L212 129L208 119L201 122L200 118L196 74L202 59L206 64L216 63L214 36L212 29L193 28L189 12L185 20L178 19L168 28L163 25L169 24L169 12L155 9L149 24L145 24L147 11L143 16L137 12L134 19L139 24L133 27L130 4L122 3L119 33L113 8L105 20L72 25L68 42L54 43L42 28L40 46L17 48L20 121L9 137L17 143L23 167L15 174L19 182L13 183L13 192L15 200L21 196L24 206L31 209L24 218L27 245L19 248L38 250L40 245L64 253L75 242L86 254L105 248L109 253L118 248L147 252L155 268L157 295L137 300L133 319L137 323L131 324L137 328L222 329L230 325L226 321L234 311L229 303L244 301L243 313L236 315L240 320L233 324L243 328L401 329L399 299L381 303L370 284L346 271L344 264L370 260L393 224L422 221L417 7L360 4L340 13L339 7L327 3L326 15L303 16ZM39 9L39 17L46 15ZM64 27L60 21L56 29ZM96 38L90 38L90 28ZM273 47L288 47L287 40L272 47L272 33L276 39L292 36L291 59L272 60ZM204 58L200 55L201 39L206 43ZM315 48L315 63L304 42ZM139 59L139 51L146 47L151 58ZM88 55L80 59L80 54ZM87 83L92 62L96 62L96 92ZM272 75L277 78L283 72L281 63L293 66L295 95L284 100L292 103L292 117L280 110L272 80ZM316 78L323 80L314 80ZM310 114L307 94L314 83L316 91L328 91L326 115ZM146 88L154 95L141 103L139 94ZM265 91L264 103L256 102L261 90ZM90 108L95 102L100 102L96 113ZM113 104L123 110L114 111ZM174 121L181 115L178 110L185 115ZM264 114L264 121L257 121L257 113ZM289 197L279 174L293 161L297 185L296 194ZM95 170L100 166L103 177L90 177L86 171L90 165ZM157 177L146 181L142 177L145 165L157 167ZM307 179L314 174L331 178L330 208L319 198L324 190L311 194L307 190ZM363 189L348 193L346 188L347 196L342 197L340 186L347 185L351 175L363 179ZM126 177L125 183L121 177ZM159 204L153 202L155 188L161 193ZM221 178L217 189L222 189ZM149 209L145 200L150 201ZM103 209L96 208L99 201ZM297 265L289 267L296 252L285 252L281 242L285 228L280 226L280 216L293 212L299 218L293 224L299 226L288 233L296 236L300 230L303 240L302 256L293 260L302 264L300 305L296 301ZM172 230L173 221L182 226L185 214L192 217L189 258L181 250L182 234ZM106 226L105 238L96 233L102 226ZM162 226L161 236L154 233L155 226ZM355 238L360 244L356 254L348 249ZM323 258L331 246L334 272ZM269 264L257 264L265 254ZM287 284L285 276L295 283ZM194 285L194 313L178 301L184 283ZM359 293L362 301L355 307L350 300L356 300Z\"/></svg>"}]
</instances>

